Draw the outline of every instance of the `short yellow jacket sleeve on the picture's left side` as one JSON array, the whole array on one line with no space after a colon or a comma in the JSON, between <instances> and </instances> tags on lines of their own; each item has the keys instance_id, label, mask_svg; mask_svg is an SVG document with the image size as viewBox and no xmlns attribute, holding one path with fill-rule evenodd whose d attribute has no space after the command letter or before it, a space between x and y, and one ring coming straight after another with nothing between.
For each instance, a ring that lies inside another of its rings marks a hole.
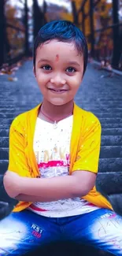
<instances>
[{"instance_id":1,"label":"short yellow jacket sleeve on the picture's left side","mask_svg":"<svg viewBox=\"0 0 122 256\"><path fill-rule=\"evenodd\" d=\"M25 113L13 120L9 129L9 166L8 170L20 176L30 176L28 161L24 150L26 147Z\"/></svg>"}]
</instances>

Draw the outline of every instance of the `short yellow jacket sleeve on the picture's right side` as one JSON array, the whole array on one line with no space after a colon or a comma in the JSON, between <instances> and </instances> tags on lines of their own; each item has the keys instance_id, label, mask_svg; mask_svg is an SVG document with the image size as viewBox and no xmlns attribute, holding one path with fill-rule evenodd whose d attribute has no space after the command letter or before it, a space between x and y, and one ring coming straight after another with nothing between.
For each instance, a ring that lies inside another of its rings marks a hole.
<instances>
[{"instance_id":1,"label":"short yellow jacket sleeve on the picture's right side","mask_svg":"<svg viewBox=\"0 0 122 256\"><path fill-rule=\"evenodd\" d=\"M101 147L102 126L98 117L91 113L91 117L85 121L79 143L79 150L72 172L86 170L98 173L98 162Z\"/></svg>"}]
</instances>

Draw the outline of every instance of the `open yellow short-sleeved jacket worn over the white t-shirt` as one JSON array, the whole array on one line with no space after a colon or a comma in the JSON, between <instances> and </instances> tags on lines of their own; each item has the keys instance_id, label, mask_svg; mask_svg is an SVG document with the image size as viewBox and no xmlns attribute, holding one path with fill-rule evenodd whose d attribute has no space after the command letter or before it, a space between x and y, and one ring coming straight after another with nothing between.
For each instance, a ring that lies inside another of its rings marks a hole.
<instances>
[{"instance_id":1,"label":"open yellow short-sleeved jacket worn over the white t-shirt","mask_svg":"<svg viewBox=\"0 0 122 256\"><path fill-rule=\"evenodd\" d=\"M39 168L33 150L35 123L41 104L13 120L9 130L9 171L20 176L38 177ZM75 170L98 173L98 160L101 145L101 124L93 113L80 109L74 104L73 127L70 145L71 174ZM95 206L112 209L109 202L94 187L83 197ZM31 202L19 202L14 212L24 210Z\"/></svg>"}]
</instances>

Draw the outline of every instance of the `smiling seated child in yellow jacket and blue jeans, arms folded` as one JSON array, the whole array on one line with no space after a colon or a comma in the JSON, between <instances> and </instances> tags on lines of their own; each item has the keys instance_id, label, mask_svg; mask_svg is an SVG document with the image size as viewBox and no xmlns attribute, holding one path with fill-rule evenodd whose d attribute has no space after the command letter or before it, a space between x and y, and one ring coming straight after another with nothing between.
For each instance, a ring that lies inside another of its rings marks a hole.
<instances>
[{"instance_id":1,"label":"smiling seated child in yellow jacket and blue jeans, arms folded","mask_svg":"<svg viewBox=\"0 0 122 256\"><path fill-rule=\"evenodd\" d=\"M87 67L86 39L71 22L51 21L35 39L33 60L43 102L10 127L4 186L20 202L0 222L0 255L57 240L121 255L122 219L94 186L101 124L74 102Z\"/></svg>"}]
</instances>

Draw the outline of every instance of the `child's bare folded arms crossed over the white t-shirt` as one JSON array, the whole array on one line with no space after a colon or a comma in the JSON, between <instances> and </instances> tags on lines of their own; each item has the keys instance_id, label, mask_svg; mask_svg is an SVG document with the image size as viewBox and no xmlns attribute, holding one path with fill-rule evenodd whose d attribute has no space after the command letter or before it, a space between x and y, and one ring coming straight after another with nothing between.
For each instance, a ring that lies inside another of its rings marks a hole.
<instances>
[{"instance_id":1,"label":"child's bare folded arms crossed over the white t-shirt","mask_svg":"<svg viewBox=\"0 0 122 256\"><path fill-rule=\"evenodd\" d=\"M8 171L4 177L4 186L8 195L19 201L51 202L87 195L94 187L95 180L96 174L87 171L44 179L21 177Z\"/></svg>"}]
</instances>

